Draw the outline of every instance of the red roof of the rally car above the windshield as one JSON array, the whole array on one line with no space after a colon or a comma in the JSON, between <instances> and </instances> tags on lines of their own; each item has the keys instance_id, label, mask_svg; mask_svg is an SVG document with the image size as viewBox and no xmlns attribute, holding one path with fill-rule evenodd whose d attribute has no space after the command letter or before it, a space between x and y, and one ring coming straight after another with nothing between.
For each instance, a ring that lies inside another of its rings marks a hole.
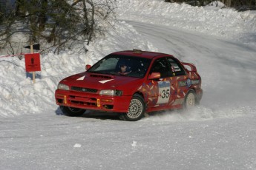
<instances>
[{"instance_id":1,"label":"red roof of the rally car above the windshield","mask_svg":"<svg viewBox=\"0 0 256 170\"><path fill-rule=\"evenodd\" d=\"M119 52L113 52L111 55L127 55L127 56L137 56L142 58L155 58L157 56L171 56L169 54L161 53L161 52L148 52L148 51L142 51L142 50L126 50L126 51L119 51Z\"/></svg>"}]
</instances>

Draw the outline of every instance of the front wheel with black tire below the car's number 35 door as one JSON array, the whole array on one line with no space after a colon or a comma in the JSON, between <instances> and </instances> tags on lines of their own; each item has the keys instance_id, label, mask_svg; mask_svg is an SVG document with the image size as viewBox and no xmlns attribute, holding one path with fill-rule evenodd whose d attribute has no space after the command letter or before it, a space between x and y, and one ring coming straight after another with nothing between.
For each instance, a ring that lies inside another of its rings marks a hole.
<instances>
[{"instance_id":1,"label":"front wheel with black tire below the car's number 35 door","mask_svg":"<svg viewBox=\"0 0 256 170\"><path fill-rule=\"evenodd\" d=\"M145 113L145 102L141 95L135 94L131 98L131 103L127 113L120 116L121 120L137 121L140 120Z\"/></svg>"}]
</instances>

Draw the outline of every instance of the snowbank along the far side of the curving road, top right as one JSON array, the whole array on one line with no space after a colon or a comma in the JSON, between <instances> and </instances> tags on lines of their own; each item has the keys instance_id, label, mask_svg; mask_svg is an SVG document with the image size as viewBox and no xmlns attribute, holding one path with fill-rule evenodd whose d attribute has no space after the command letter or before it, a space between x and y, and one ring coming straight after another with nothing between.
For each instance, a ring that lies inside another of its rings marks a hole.
<instances>
[{"instance_id":1,"label":"snowbank along the far side of the curving road, top right","mask_svg":"<svg viewBox=\"0 0 256 170\"><path fill-rule=\"evenodd\" d=\"M221 2L219 3L221 5ZM251 41L243 38L246 35L255 35L255 13L250 11L238 13L234 9L220 9L220 7L209 5L193 7L189 4L165 3L154 0L122 0L119 1L119 18L164 24L184 30L240 39L255 45L255 37Z\"/></svg>"}]
</instances>

